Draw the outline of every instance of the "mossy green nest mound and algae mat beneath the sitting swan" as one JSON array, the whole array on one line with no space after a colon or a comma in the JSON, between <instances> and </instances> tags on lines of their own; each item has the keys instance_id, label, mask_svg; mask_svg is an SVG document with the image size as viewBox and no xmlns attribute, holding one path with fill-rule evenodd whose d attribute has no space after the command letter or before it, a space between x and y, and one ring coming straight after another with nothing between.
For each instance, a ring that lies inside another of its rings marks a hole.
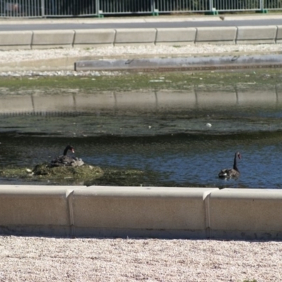
<instances>
[{"instance_id":1,"label":"mossy green nest mound and algae mat beneath the sitting swan","mask_svg":"<svg viewBox=\"0 0 282 282\"><path fill-rule=\"evenodd\" d=\"M154 173L153 173L154 174ZM8 166L0 169L1 178L13 178L23 181L35 180L43 183L60 185L121 185L140 186L150 183L150 178L144 171L132 168L100 168L99 166L83 165L56 166L37 164L35 168L16 168Z\"/></svg>"}]
</instances>

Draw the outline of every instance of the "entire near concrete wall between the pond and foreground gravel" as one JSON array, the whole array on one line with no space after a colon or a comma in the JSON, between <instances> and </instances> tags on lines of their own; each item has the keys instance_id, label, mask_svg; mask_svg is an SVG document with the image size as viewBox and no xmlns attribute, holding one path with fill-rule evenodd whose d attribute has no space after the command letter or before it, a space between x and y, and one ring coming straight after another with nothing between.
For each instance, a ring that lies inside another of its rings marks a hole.
<instances>
[{"instance_id":1,"label":"entire near concrete wall between the pond and foreground gravel","mask_svg":"<svg viewBox=\"0 0 282 282\"><path fill-rule=\"evenodd\" d=\"M282 190L0 186L0 233L281 239Z\"/></svg>"}]
</instances>

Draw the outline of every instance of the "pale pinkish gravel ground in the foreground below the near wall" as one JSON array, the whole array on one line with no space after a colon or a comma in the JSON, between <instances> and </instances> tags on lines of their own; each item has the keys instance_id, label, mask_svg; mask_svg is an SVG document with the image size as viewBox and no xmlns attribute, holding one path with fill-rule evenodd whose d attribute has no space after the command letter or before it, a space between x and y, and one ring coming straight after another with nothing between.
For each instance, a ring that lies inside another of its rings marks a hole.
<instances>
[{"instance_id":1,"label":"pale pinkish gravel ground in the foreground below the near wall","mask_svg":"<svg viewBox=\"0 0 282 282\"><path fill-rule=\"evenodd\" d=\"M281 281L282 243L0 237L0 281Z\"/></svg>"}]
</instances>

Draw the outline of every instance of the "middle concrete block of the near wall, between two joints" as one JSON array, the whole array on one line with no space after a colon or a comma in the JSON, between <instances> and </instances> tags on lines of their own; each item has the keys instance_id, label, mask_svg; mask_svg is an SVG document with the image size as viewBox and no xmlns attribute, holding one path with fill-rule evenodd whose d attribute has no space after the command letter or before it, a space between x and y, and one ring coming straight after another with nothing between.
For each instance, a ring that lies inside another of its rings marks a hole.
<instances>
[{"instance_id":1,"label":"middle concrete block of the near wall, between two joints","mask_svg":"<svg viewBox=\"0 0 282 282\"><path fill-rule=\"evenodd\" d=\"M90 187L73 192L73 234L206 238L204 198L217 188Z\"/></svg>"}]
</instances>

